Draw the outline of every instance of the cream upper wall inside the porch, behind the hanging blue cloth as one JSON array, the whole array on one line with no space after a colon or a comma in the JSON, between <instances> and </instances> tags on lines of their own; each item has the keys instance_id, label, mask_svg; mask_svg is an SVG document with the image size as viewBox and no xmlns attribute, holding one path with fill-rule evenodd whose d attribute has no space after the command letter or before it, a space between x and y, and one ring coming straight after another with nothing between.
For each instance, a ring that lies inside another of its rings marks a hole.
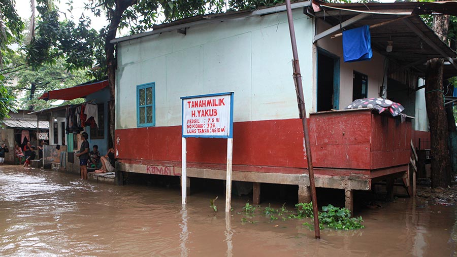
<instances>
[{"instance_id":1,"label":"cream upper wall inside the porch, behind the hanging blue cloth","mask_svg":"<svg viewBox=\"0 0 457 257\"><path fill-rule=\"evenodd\" d=\"M321 20L317 22L317 33L330 28ZM317 41L316 46L323 48L340 59L340 109L344 109L352 102L352 75L353 71L361 72L368 76L368 97L379 97L379 88L382 86L384 56L373 51L373 58L369 61L344 62L342 36L330 39L330 36ZM384 84L386 84L385 81Z\"/></svg>"}]
</instances>

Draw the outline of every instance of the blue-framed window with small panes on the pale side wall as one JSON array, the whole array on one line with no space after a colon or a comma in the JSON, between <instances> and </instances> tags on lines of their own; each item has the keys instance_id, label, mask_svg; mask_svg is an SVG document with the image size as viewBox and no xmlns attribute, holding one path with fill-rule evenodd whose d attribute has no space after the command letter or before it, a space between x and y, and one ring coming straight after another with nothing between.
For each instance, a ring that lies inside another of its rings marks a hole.
<instances>
[{"instance_id":1,"label":"blue-framed window with small panes on the pale side wall","mask_svg":"<svg viewBox=\"0 0 457 257\"><path fill-rule=\"evenodd\" d=\"M155 83L137 86L137 125L155 126Z\"/></svg>"}]
</instances>

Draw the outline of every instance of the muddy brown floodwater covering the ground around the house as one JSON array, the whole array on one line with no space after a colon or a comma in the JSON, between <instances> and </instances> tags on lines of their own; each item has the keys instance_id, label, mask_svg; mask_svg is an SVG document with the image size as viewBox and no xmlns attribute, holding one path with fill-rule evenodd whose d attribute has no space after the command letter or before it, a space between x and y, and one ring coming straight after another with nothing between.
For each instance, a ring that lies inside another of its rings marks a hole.
<instances>
[{"instance_id":1,"label":"muddy brown floodwater covering the ground around the house","mask_svg":"<svg viewBox=\"0 0 457 257\"><path fill-rule=\"evenodd\" d=\"M216 214L212 196L164 188L116 187L76 175L0 167L2 256L452 256L455 208L399 199L360 214L366 228L322 230L303 221L241 223ZM220 198L223 198L220 196ZM240 210L245 200L234 199ZM457 226L455 227L457 230Z\"/></svg>"}]
</instances>

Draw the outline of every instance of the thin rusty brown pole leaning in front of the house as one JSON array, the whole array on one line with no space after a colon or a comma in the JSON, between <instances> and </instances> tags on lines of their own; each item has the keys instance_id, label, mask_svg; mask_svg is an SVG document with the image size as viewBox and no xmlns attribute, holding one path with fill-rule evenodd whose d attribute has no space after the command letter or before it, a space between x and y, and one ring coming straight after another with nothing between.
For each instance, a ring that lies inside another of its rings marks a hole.
<instances>
[{"instance_id":1,"label":"thin rusty brown pole leaning in front of the house","mask_svg":"<svg viewBox=\"0 0 457 257\"><path fill-rule=\"evenodd\" d=\"M304 96L303 96L302 75L300 74L300 64L299 64L298 52L297 52L297 41L295 39L295 29L293 28L292 8L290 7L290 0L286 0L286 8L287 8L287 20L289 23L290 42L292 43L293 79L295 80L295 89L297 91L300 118L302 119L303 134L305 137L306 160L308 161L309 185L311 187L311 199L313 202L314 235L316 236L316 238L320 238L319 216L317 213L316 185L314 183L313 159L311 158L311 148L309 146L308 121L306 120L306 107L305 107L305 100L304 100Z\"/></svg>"}]
</instances>

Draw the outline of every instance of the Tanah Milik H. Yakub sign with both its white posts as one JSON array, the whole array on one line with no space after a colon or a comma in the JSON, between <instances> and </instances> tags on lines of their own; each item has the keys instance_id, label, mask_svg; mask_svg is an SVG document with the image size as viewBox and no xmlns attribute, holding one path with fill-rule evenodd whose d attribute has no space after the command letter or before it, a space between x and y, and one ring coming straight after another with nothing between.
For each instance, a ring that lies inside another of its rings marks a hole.
<instances>
[{"instance_id":1,"label":"Tanah Milik H. Yakub sign with both its white posts","mask_svg":"<svg viewBox=\"0 0 457 257\"><path fill-rule=\"evenodd\" d=\"M187 137L227 138L225 211L232 196L233 92L185 96L182 99L182 204L187 199Z\"/></svg>"}]
</instances>

